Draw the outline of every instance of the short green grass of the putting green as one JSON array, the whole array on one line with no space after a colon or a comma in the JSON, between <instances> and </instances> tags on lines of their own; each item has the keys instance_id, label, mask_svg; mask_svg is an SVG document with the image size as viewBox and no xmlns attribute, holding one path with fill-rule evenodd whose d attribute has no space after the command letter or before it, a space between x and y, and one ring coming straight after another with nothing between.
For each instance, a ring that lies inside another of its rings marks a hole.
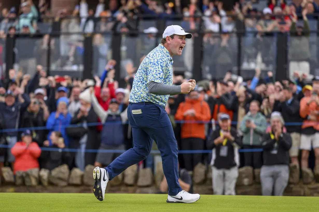
<instances>
[{"instance_id":1,"label":"short green grass of the putting green","mask_svg":"<svg viewBox=\"0 0 319 212\"><path fill-rule=\"evenodd\" d=\"M166 203L167 195L0 193L0 211L145 212L145 211L319 211L319 197L202 195L190 204Z\"/></svg>"}]
</instances>

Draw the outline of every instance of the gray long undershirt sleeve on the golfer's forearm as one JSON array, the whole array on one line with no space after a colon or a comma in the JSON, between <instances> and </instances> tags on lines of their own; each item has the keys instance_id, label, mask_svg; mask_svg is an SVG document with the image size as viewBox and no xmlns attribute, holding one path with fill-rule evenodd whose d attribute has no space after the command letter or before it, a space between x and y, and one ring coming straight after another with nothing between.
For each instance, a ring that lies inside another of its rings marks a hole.
<instances>
[{"instance_id":1,"label":"gray long undershirt sleeve on the golfer's forearm","mask_svg":"<svg viewBox=\"0 0 319 212\"><path fill-rule=\"evenodd\" d=\"M181 85L166 85L164 83L149 82L148 91L156 95L176 95L181 93Z\"/></svg>"}]
</instances>

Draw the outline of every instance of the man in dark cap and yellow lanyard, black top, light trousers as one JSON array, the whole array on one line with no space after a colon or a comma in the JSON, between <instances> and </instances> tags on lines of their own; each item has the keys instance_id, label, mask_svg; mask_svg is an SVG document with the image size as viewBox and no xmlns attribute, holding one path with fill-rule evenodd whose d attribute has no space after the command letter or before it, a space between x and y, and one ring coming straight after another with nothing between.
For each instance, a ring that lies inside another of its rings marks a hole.
<instances>
[{"instance_id":1,"label":"man in dark cap and yellow lanyard, black top, light trousers","mask_svg":"<svg viewBox=\"0 0 319 212\"><path fill-rule=\"evenodd\" d=\"M213 191L214 195L235 195L240 165L238 148L242 143L227 113L219 113L218 124L220 129L214 130L207 142L207 149L212 149Z\"/></svg>"}]
</instances>

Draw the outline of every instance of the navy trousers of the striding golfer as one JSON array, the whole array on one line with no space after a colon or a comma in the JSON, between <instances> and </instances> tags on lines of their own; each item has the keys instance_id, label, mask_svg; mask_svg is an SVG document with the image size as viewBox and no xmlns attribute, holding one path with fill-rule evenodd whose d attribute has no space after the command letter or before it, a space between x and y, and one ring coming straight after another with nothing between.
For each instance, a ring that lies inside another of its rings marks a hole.
<instances>
[{"instance_id":1,"label":"navy trousers of the striding golfer","mask_svg":"<svg viewBox=\"0 0 319 212\"><path fill-rule=\"evenodd\" d=\"M135 111L132 113L132 110ZM136 112L136 110L141 110ZM110 180L126 168L143 161L151 152L154 140L162 156L168 195L182 191L178 182L178 148L171 121L163 106L149 102L130 103L127 115L132 126L134 147L117 157L106 170Z\"/></svg>"}]
</instances>

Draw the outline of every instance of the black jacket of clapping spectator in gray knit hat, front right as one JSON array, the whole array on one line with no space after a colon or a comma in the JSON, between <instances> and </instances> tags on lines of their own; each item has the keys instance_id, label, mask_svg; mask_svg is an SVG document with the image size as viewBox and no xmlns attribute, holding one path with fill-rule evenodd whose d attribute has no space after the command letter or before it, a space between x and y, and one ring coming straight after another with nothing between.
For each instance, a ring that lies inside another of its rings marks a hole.
<instances>
[{"instance_id":1,"label":"black jacket of clapping spectator in gray knit hat, front right","mask_svg":"<svg viewBox=\"0 0 319 212\"><path fill-rule=\"evenodd\" d=\"M282 133L279 140L271 139L270 133L263 136L263 165L289 165L289 149L292 145L291 137Z\"/></svg>"}]
</instances>

